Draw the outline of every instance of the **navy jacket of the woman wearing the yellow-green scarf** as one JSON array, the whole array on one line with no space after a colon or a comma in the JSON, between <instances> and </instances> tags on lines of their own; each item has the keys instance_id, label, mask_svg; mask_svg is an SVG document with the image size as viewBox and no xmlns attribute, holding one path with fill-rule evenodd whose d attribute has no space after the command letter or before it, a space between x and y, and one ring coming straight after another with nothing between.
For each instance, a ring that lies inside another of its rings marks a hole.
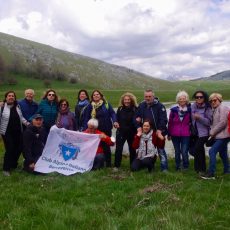
<instances>
[{"instance_id":1,"label":"navy jacket of the woman wearing the yellow-green scarf","mask_svg":"<svg viewBox=\"0 0 230 230\"><path fill-rule=\"evenodd\" d=\"M92 109L93 107L91 104L89 104L85 109L86 111L83 121L83 130L87 129L87 122L92 118ZM107 105L103 103L103 105L96 110L96 119L99 123L98 130L105 133L111 131L113 128L113 123L117 122L116 113L109 103Z\"/></svg>"}]
</instances>

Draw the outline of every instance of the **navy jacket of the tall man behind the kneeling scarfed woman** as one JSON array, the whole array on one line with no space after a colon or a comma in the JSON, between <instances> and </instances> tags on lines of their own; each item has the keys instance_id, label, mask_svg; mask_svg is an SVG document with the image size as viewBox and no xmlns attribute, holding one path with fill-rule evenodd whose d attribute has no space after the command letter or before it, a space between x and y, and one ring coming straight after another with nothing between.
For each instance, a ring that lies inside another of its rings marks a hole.
<instances>
[{"instance_id":1,"label":"navy jacket of the tall man behind the kneeling scarfed woman","mask_svg":"<svg viewBox=\"0 0 230 230\"><path fill-rule=\"evenodd\" d=\"M153 103L148 106L145 101L141 102L138 106L136 118L140 117L141 122L149 119L153 124L154 130L161 130L163 135L167 135L167 112L165 106L161 104L158 98L155 98ZM141 124L136 122L136 127L140 127Z\"/></svg>"}]
</instances>

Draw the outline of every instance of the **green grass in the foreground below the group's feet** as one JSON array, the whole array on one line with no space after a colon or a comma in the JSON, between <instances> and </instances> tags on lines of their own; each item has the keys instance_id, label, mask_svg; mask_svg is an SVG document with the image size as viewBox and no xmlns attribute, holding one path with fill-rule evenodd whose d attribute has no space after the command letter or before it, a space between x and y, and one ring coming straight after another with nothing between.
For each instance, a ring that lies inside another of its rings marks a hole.
<instances>
[{"instance_id":1,"label":"green grass in the foreground below the group's feet","mask_svg":"<svg viewBox=\"0 0 230 230\"><path fill-rule=\"evenodd\" d=\"M0 165L2 165L2 144ZM112 169L62 176L0 174L0 229L229 229L230 175L206 181L190 169Z\"/></svg>"}]
</instances>

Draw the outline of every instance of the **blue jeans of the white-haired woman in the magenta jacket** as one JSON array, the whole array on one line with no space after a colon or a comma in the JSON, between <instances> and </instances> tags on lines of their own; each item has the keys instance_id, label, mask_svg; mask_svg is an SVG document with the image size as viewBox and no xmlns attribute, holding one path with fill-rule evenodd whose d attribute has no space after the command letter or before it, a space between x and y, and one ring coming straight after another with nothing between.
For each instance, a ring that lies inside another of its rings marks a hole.
<instances>
[{"instance_id":1,"label":"blue jeans of the white-haired woman in the magenta jacket","mask_svg":"<svg viewBox=\"0 0 230 230\"><path fill-rule=\"evenodd\" d=\"M183 168L187 169L189 166L188 150L190 137L172 136L172 142L175 149L175 163L176 170L181 169L181 156Z\"/></svg>"}]
</instances>

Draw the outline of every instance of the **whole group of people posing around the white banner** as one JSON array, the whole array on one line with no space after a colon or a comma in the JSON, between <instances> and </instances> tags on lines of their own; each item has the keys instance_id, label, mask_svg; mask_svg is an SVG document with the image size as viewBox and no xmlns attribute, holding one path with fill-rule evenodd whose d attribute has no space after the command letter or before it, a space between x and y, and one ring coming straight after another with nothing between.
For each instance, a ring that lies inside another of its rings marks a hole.
<instances>
[{"instance_id":1,"label":"whole group of people posing around the white banner","mask_svg":"<svg viewBox=\"0 0 230 230\"><path fill-rule=\"evenodd\" d=\"M75 111L71 112L67 99L58 99L55 90L47 90L40 101L34 101L34 90L25 90L25 98L17 100L14 91L5 94L0 104L0 134L5 155L3 174L10 175L17 168L23 153L24 169L34 171L36 161L42 154L50 128L56 125L101 138L94 159L93 169L112 166L110 146L116 145L114 169L121 166L124 143L127 141L130 154L130 169L147 168L149 172L159 156L162 172L168 171L165 151L166 139L172 140L175 149L176 170L189 167L189 152L194 156L194 169L204 179L214 178L216 155L219 152L224 173L229 173L227 145L230 138L229 108L222 105L222 96L210 96L199 90L193 94L191 105L185 91L176 95L176 105L170 109L169 119L165 106L152 90L144 92L144 100L138 105L135 95L125 93L115 112L99 90L89 97L80 90ZM116 141L112 129L116 128ZM191 132L195 130L195 135ZM205 143L212 140L209 150L209 168L206 169Z\"/></svg>"}]
</instances>

